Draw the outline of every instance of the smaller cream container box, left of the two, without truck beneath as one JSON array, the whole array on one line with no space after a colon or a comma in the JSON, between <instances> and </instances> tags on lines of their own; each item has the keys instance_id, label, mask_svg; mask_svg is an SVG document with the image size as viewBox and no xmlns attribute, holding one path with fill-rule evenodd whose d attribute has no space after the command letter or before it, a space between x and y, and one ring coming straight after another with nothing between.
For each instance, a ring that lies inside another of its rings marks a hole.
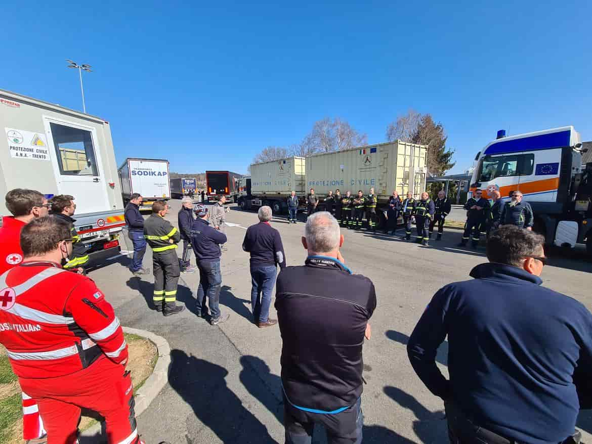
<instances>
[{"instance_id":1,"label":"smaller cream container box, left of the two, without truck beneath","mask_svg":"<svg viewBox=\"0 0 592 444\"><path fill-rule=\"evenodd\" d=\"M305 159L288 159L251 165L251 194L289 195L292 190L298 195L305 192Z\"/></svg>"}]
</instances>

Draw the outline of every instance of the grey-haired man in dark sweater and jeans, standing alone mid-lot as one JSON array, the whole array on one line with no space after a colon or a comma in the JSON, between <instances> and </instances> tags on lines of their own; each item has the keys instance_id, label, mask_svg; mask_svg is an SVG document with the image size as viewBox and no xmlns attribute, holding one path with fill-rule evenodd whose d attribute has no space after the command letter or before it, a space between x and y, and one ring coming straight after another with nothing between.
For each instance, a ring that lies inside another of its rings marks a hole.
<instances>
[{"instance_id":1,"label":"grey-haired man in dark sweater and jeans, standing alone mid-lot","mask_svg":"<svg viewBox=\"0 0 592 444\"><path fill-rule=\"evenodd\" d=\"M269 224L271 217L270 207L259 208L260 222L247 229L243 241L243 250L251 253L251 307L253 319L259 328L278 323L269 317L269 305L275 284L276 265L280 268L286 266L282 238L279 231Z\"/></svg>"}]
</instances>

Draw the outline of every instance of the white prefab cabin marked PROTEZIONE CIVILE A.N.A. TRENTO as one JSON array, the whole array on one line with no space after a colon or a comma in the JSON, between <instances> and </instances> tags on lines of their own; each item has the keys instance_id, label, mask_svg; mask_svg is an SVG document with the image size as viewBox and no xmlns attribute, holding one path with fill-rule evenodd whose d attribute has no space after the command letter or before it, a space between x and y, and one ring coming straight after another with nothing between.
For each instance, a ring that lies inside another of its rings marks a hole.
<instances>
[{"instance_id":1,"label":"white prefab cabin marked PROTEZIONE CIVILE A.N.A. TRENTO","mask_svg":"<svg viewBox=\"0 0 592 444\"><path fill-rule=\"evenodd\" d=\"M109 123L0 90L0 124L0 213L10 214L4 196L14 188L70 194L89 267L117 255L125 222Z\"/></svg>"}]
</instances>

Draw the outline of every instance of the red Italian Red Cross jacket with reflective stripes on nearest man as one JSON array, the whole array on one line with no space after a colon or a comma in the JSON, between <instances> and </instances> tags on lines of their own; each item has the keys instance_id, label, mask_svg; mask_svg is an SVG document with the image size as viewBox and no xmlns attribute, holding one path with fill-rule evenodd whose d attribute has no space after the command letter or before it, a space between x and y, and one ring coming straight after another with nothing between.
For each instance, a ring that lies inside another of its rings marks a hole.
<instances>
[{"instance_id":1,"label":"red Italian Red Cross jacket with reflective stripes on nearest man","mask_svg":"<svg viewBox=\"0 0 592 444\"><path fill-rule=\"evenodd\" d=\"M126 363L111 304L86 276L24 262L0 276L0 343L19 378L69 375L105 355Z\"/></svg>"}]
</instances>

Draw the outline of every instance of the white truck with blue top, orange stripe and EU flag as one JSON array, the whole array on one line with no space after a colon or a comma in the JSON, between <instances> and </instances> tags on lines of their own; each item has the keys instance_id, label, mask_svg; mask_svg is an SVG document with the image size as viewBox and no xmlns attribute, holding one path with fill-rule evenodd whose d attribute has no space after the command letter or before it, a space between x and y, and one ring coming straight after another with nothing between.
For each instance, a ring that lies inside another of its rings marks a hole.
<instances>
[{"instance_id":1,"label":"white truck with blue top, orange stripe and EU flag","mask_svg":"<svg viewBox=\"0 0 592 444\"><path fill-rule=\"evenodd\" d=\"M547 245L585 244L592 257L592 162L583 165L584 150L573 126L508 137L500 130L475 156L469 197L480 188L508 201L520 190Z\"/></svg>"}]
</instances>

